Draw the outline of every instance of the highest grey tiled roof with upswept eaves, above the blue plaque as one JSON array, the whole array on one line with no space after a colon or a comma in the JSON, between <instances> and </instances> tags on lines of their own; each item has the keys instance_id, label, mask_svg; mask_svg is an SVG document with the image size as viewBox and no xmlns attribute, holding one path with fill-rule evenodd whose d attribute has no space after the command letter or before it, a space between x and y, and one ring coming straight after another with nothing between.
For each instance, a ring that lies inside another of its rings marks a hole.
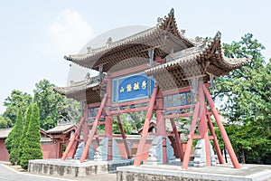
<instances>
[{"instance_id":1,"label":"highest grey tiled roof with upswept eaves, above the blue plaque","mask_svg":"<svg viewBox=\"0 0 271 181\"><path fill-rule=\"evenodd\" d=\"M108 54L108 52L117 52L119 50L127 49L126 52L129 52L128 49L131 52L134 52L132 46L140 45L142 46L147 45L147 42L154 41L154 39L157 39L157 37L161 38L162 36L171 36L169 38L170 41L173 41L175 43L179 43L179 47L183 47L183 49L192 47L194 43L189 40L188 38L184 37L182 33L179 32L177 28L177 24L174 19L173 9L171 10L171 13L164 17L160 23L156 24L154 27L149 28L143 32L135 33L134 35L128 36L124 39L121 39L114 43L107 43L107 45L97 48L97 49L91 49L91 53L85 53L85 54L74 54L69 56L64 56L64 58L70 62L75 62L79 64L80 66L89 68L89 69L96 69L98 66L99 59L103 59L104 55ZM154 43L150 44L150 46L160 46L161 43ZM147 47L145 47L147 48ZM145 49L144 48L144 49ZM126 53L125 52L125 53ZM143 52L142 52L143 53ZM138 52L137 52L138 55ZM142 54L143 55L143 54ZM124 56L119 56L117 59L121 59ZM128 57L127 57L128 58ZM105 60L101 60L102 64L105 62ZM111 59L109 60L111 62L114 62L115 60ZM104 69L104 71L107 71L107 69Z\"/></svg>"}]
</instances>

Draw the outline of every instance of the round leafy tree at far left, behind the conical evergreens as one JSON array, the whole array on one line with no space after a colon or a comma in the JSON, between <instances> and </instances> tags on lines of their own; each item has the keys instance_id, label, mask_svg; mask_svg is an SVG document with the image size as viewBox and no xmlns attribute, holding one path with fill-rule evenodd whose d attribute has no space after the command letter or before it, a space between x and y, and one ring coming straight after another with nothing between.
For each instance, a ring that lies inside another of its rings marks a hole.
<instances>
[{"instance_id":1,"label":"round leafy tree at far left, behind the conical evergreens","mask_svg":"<svg viewBox=\"0 0 271 181\"><path fill-rule=\"evenodd\" d=\"M3 117L7 121L11 120L12 125L8 125L10 128L15 123L18 108L20 108L24 114L30 102L32 102L32 96L26 92L23 93L21 90L12 90L11 95L5 99L4 106L6 110Z\"/></svg>"}]
</instances>

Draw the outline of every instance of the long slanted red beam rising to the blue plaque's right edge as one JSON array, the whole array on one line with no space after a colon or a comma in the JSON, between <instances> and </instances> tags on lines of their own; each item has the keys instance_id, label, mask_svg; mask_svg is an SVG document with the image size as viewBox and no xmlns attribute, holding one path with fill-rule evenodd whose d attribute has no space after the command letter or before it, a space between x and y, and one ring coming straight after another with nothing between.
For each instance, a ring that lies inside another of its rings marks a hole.
<instances>
[{"instance_id":1,"label":"long slanted red beam rising to the blue plaque's right edge","mask_svg":"<svg viewBox=\"0 0 271 181\"><path fill-rule=\"evenodd\" d=\"M140 166L140 162L141 162L141 159L144 154L145 140L147 138L150 121L152 119L152 114L153 114L153 110L154 110L154 102L155 102L157 90L158 90L158 88L154 87L153 94L152 94L152 97L150 100L149 110L147 111L147 114L146 114L145 123L144 123L143 131L142 131L142 136L140 138L139 145L138 145L136 155L135 155L134 166L136 166L136 167Z\"/></svg>"}]
</instances>

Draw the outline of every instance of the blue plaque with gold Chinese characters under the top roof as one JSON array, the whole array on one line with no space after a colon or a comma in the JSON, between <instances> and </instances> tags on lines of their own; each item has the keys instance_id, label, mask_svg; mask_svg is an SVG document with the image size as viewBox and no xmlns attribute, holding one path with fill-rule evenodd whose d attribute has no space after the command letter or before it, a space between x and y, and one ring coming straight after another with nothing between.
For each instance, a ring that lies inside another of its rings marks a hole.
<instances>
[{"instance_id":1,"label":"blue plaque with gold Chinese characters under the top roof","mask_svg":"<svg viewBox=\"0 0 271 181\"><path fill-rule=\"evenodd\" d=\"M113 102L149 98L154 90L154 78L145 73L113 80Z\"/></svg>"}]
</instances>

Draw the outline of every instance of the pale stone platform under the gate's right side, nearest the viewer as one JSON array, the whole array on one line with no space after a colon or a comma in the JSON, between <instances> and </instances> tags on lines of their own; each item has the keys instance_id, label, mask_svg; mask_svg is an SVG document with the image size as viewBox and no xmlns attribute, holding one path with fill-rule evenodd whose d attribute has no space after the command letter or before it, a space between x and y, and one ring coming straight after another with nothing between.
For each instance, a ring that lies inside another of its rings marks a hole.
<instances>
[{"instance_id":1,"label":"pale stone platform under the gate's right side, nearest the viewer","mask_svg":"<svg viewBox=\"0 0 271 181\"><path fill-rule=\"evenodd\" d=\"M132 180L271 181L271 166L241 165L240 169L236 169L232 165L225 164L212 167L189 167L187 170L182 170L181 165L117 168L117 181Z\"/></svg>"}]
</instances>

